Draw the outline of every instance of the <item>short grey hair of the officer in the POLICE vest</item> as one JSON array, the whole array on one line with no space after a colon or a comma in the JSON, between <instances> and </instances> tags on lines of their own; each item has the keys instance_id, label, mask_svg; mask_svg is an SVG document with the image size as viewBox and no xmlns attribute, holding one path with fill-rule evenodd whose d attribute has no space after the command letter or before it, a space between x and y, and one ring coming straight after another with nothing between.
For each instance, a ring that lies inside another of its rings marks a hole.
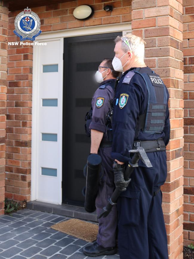
<instances>
[{"instance_id":1,"label":"short grey hair of the officer in the POLICE vest","mask_svg":"<svg viewBox=\"0 0 194 259\"><path fill-rule=\"evenodd\" d=\"M130 47L123 41L123 39L126 38L127 42L129 43ZM144 58L144 40L136 35L132 34L126 34L123 36L117 36L115 39L115 44L119 41L122 41L121 49L126 53L130 50L134 54L134 56L137 56L138 58Z\"/></svg>"}]
</instances>

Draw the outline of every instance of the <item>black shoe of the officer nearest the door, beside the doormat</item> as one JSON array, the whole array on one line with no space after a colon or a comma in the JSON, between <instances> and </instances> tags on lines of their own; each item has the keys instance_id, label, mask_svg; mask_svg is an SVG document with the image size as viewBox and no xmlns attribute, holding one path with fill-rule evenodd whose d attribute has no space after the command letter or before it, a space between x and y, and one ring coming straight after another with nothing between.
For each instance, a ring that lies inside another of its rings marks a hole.
<instances>
[{"instance_id":1,"label":"black shoe of the officer nearest the door, beside the doormat","mask_svg":"<svg viewBox=\"0 0 194 259\"><path fill-rule=\"evenodd\" d=\"M90 257L96 257L99 255L114 255L116 254L116 248L99 246L98 243L95 242L90 246L85 246L83 249L83 253L84 255Z\"/></svg>"}]
</instances>

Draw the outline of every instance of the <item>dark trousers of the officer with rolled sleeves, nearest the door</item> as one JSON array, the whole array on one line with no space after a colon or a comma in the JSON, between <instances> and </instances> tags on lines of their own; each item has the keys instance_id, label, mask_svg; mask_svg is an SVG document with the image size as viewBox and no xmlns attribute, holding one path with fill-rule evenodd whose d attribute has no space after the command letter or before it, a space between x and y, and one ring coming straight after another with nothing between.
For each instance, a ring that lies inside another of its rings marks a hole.
<instances>
[{"instance_id":1,"label":"dark trousers of the officer with rolled sleeves, nearest the door","mask_svg":"<svg viewBox=\"0 0 194 259\"><path fill-rule=\"evenodd\" d=\"M98 154L102 158L102 166L104 168L104 175L99 183L98 195L96 197L96 213L100 214L101 209L107 205L108 198L113 194L115 189L114 185L114 172L113 172L113 161L114 159L110 156L110 148L99 148ZM105 218L99 219L99 229L97 236L97 243L103 247L115 246L115 235L117 227L117 208L113 206L110 214Z\"/></svg>"}]
</instances>

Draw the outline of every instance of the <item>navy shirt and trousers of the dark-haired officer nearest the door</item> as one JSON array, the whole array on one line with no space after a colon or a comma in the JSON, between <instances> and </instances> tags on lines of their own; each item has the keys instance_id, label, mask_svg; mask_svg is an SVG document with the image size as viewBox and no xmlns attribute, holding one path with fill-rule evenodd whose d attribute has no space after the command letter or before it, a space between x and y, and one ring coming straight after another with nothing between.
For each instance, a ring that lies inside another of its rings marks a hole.
<instances>
[{"instance_id":1,"label":"navy shirt and trousers of the dark-haired officer nearest the door","mask_svg":"<svg viewBox=\"0 0 194 259\"><path fill-rule=\"evenodd\" d=\"M112 125L110 112L114 102L115 79L105 80L100 84L92 99L92 120L89 130L97 130L104 133L98 154L102 159L104 168L103 177L100 179L98 195L96 197L97 215L106 206L108 198L112 195L114 185L113 158L111 157ZM89 118L88 118L89 119ZM114 247L116 240L117 209L113 206L112 212L106 218L99 219L97 243L104 248Z\"/></svg>"}]
</instances>

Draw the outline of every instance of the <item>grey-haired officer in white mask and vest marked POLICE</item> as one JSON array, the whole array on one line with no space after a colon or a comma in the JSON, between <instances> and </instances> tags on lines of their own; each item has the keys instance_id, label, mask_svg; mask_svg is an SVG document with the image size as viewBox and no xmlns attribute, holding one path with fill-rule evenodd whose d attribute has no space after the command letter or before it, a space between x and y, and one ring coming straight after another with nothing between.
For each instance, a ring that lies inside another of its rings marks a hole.
<instances>
[{"instance_id":1,"label":"grey-haired officer in white mask and vest marked POLICE","mask_svg":"<svg viewBox=\"0 0 194 259\"><path fill-rule=\"evenodd\" d=\"M170 138L169 94L160 76L144 63L144 41L135 35L115 39L113 68L124 72L115 93L112 157L118 198L121 259L167 259L167 235L160 186L167 177ZM142 146L151 168L139 160L124 179L129 150Z\"/></svg>"}]
</instances>

